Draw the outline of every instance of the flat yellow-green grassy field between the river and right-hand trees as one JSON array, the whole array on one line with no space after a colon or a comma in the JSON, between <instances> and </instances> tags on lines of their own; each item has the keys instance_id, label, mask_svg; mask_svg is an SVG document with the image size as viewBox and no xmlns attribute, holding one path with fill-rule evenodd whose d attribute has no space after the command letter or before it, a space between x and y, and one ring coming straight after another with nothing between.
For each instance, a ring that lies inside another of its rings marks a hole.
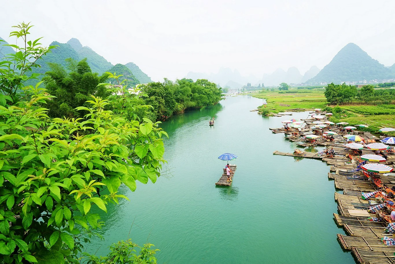
<instances>
[{"instance_id":1,"label":"flat yellow-green grassy field between the river and right-hand trees","mask_svg":"<svg viewBox=\"0 0 395 264\"><path fill-rule=\"evenodd\" d=\"M286 93L277 90L252 93L251 96L266 99L267 106L260 106L260 113L270 115L270 113L284 112L295 108L306 110L324 108L327 104L324 91L324 89L290 89ZM280 106L280 104L286 106Z\"/></svg>"}]
</instances>

